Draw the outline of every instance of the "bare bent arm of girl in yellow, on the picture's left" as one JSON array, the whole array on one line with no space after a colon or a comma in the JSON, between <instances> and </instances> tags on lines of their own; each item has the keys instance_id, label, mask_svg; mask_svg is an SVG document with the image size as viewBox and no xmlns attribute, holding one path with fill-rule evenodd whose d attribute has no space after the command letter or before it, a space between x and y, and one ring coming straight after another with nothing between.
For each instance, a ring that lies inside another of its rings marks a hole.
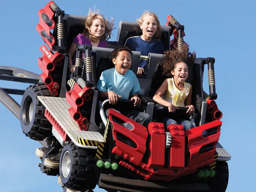
<instances>
[{"instance_id":1,"label":"bare bent arm of girl in yellow, on the picture's left","mask_svg":"<svg viewBox=\"0 0 256 192\"><path fill-rule=\"evenodd\" d=\"M168 88L168 80L165 79L164 82L162 83L162 85L156 91L156 93L153 97L153 100L155 100L160 105L164 105L165 107L168 107L169 112L175 112L175 109L176 108L179 109L179 108L176 107L175 105L172 105L172 103L170 103L162 98L162 95L166 92L167 88Z\"/></svg>"}]
</instances>

